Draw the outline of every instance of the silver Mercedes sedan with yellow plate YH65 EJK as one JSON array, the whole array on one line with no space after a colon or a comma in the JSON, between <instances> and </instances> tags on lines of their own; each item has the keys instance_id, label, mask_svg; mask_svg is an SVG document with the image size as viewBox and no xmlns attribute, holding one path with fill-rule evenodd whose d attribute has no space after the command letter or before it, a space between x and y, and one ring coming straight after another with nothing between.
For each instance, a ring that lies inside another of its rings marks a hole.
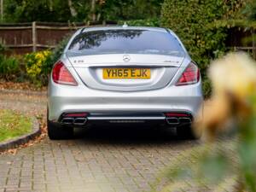
<instances>
[{"instance_id":1,"label":"silver Mercedes sedan with yellow plate YH65 EJK","mask_svg":"<svg viewBox=\"0 0 256 192\"><path fill-rule=\"evenodd\" d=\"M195 138L191 123L202 100L200 70L171 30L87 27L52 69L49 138L92 125L175 127L178 136Z\"/></svg>"}]
</instances>

